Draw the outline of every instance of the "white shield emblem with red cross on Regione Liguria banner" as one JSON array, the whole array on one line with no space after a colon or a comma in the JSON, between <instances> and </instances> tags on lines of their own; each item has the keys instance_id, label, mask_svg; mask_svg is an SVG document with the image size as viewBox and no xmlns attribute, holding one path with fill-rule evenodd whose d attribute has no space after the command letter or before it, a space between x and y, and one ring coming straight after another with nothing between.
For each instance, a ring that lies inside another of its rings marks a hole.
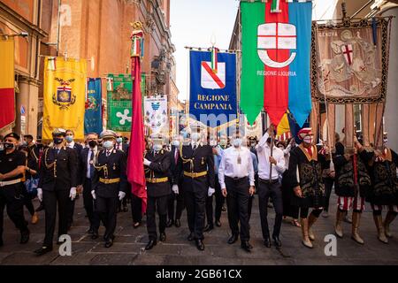
<instances>
[{"instance_id":1,"label":"white shield emblem with red cross on Regione Liguria banner","mask_svg":"<svg viewBox=\"0 0 398 283\"><path fill-rule=\"evenodd\" d=\"M291 52L290 57L284 62L276 62L268 55L268 50L296 50L295 25L286 23L268 23L257 28L257 53L264 65L273 68L283 68L290 65L296 56Z\"/></svg>"}]
</instances>

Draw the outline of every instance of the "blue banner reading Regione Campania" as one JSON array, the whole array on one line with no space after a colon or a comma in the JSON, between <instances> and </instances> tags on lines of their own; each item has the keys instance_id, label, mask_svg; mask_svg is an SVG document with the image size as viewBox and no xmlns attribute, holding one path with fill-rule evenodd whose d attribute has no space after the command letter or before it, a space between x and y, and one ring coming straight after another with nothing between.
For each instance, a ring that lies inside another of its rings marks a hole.
<instances>
[{"instance_id":1,"label":"blue banner reading Regione Campania","mask_svg":"<svg viewBox=\"0 0 398 283\"><path fill-rule=\"evenodd\" d=\"M221 126L235 120L237 116L235 54L217 52L217 60L214 56L212 59L213 52L190 51L189 55L190 116L210 127Z\"/></svg>"}]
</instances>

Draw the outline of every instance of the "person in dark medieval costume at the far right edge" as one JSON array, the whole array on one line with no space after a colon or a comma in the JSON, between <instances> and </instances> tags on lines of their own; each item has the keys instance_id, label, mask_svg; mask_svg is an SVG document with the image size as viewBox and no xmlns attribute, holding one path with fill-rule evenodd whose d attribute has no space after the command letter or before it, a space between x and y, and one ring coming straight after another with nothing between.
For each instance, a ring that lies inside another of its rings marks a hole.
<instances>
[{"instance_id":1,"label":"person in dark medieval costume at the far right edge","mask_svg":"<svg viewBox=\"0 0 398 283\"><path fill-rule=\"evenodd\" d=\"M398 155L387 148L387 133L383 138L383 149L376 149L370 164L372 187L366 194L366 201L371 203L374 223L378 229L378 239L388 243L391 238L390 224L398 214L398 178L396 168ZM383 222L381 212L383 206L388 208Z\"/></svg>"}]
</instances>

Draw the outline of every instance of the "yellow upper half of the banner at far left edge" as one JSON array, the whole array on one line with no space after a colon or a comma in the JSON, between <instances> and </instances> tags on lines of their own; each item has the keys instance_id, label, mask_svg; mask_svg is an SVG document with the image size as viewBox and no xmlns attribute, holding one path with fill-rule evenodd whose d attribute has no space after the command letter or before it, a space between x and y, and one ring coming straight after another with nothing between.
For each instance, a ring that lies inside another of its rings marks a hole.
<instances>
[{"instance_id":1,"label":"yellow upper half of the banner at far left edge","mask_svg":"<svg viewBox=\"0 0 398 283\"><path fill-rule=\"evenodd\" d=\"M14 39L0 37L0 88L14 88Z\"/></svg>"}]
</instances>

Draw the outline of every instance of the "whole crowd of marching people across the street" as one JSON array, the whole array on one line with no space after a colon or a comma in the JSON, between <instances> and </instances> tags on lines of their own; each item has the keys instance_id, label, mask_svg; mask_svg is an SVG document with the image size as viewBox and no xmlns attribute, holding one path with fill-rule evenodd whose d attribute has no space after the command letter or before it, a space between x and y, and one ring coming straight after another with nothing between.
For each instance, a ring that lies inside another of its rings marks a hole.
<instances>
[{"instance_id":1,"label":"whole crowd of marching people across the street","mask_svg":"<svg viewBox=\"0 0 398 283\"><path fill-rule=\"evenodd\" d=\"M29 241L26 207L32 225L39 221L38 211L45 211L45 238L34 253L50 252L56 223L60 244L59 237L73 226L74 203L82 195L87 233L98 239L103 223L105 248L111 248L115 240L117 214L128 210L128 199L134 228L142 225L146 215L147 250L157 241L166 241L167 227L181 226L186 209L188 241L195 241L197 249L204 249L203 232L221 226L222 211L227 210L231 237L226 242L233 244L240 238L241 248L250 252L249 219L257 195L264 246L282 246L281 224L291 218L294 226L301 227L302 244L311 249L316 239L312 227L321 214L329 217L333 187L338 196L335 234L343 237L341 222L349 221L352 239L364 244L359 228L368 202L377 237L388 243L390 225L398 214L398 156L387 147L387 133L382 149L364 149L356 138L355 148L345 149L336 134L333 152L325 144L315 144L310 128L298 133L299 144L294 138L277 141L275 134L273 126L259 141L254 137L246 140L239 132L231 137L206 137L200 127L173 136L171 142L152 134L146 139L143 157L148 196L145 213L142 199L132 194L126 177L128 150L134 149L121 134L110 130L91 133L79 143L74 142L72 130L57 129L49 144L34 142L29 134L22 138L7 134L0 141L0 247L4 245L4 208L20 231L20 243ZM36 197L40 206L34 209ZM275 210L272 233L270 207ZM384 221L383 208L387 209ZM352 210L352 219L348 210Z\"/></svg>"}]
</instances>

